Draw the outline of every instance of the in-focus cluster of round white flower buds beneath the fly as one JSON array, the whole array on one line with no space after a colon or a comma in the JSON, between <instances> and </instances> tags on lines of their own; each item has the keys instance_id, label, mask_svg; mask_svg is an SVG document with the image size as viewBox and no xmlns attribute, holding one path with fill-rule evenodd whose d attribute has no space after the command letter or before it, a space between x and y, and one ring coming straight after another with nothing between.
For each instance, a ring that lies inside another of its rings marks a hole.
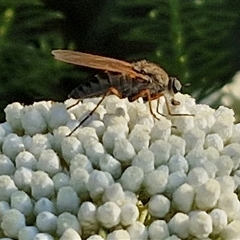
<instances>
[{"instance_id":1,"label":"in-focus cluster of round white flower buds beneath the fly","mask_svg":"<svg viewBox=\"0 0 240 240\"><path fill-rule=\"evenodd\" d=\"M240 124L176 95L19 103L0 124L0 238L240 239ZM164 99L153 111L166 114Z\"/></svg>"}]
</instances>

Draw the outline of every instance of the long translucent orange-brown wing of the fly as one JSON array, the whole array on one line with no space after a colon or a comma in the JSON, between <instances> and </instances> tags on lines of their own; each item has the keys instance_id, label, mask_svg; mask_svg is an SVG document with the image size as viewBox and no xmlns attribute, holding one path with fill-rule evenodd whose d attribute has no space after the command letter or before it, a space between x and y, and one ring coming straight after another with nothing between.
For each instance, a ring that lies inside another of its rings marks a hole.
<instances>
[{"instance_id":1,"label":"long translucent orange-brown wing of the fly","mask_svg":"<svg viewBox=\"0 0 240 240\"><path fill-rule=\"evenodd\" d=\"M70 50L53 50L52 54L55 59L62 62L109 72L122 73L130 76L131 78L140 78L141 80L146 81L148 79L147 76L135 71L131 63L122 60Z\"/></svg>"}]
</instances>

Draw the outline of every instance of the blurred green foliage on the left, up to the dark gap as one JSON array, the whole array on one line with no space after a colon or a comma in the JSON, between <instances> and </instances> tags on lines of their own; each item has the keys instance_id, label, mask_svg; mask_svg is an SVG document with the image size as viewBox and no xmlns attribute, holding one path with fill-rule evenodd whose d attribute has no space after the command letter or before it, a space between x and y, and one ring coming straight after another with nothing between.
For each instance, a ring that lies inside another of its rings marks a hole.
<instances>
[{"instance_id":1,"label":"blurred green foliage on the left, up to the dark gap","mask_svg":"<svg viewBox=\"0 0 240 240\"><path fill-rule=\"evenodd\" d=\"M0 119L13 101L66 98L59 84L66 67L51 55L53 48L67 47L62 20L38 0L0 2Z\"/></svg>"}]
</instances>

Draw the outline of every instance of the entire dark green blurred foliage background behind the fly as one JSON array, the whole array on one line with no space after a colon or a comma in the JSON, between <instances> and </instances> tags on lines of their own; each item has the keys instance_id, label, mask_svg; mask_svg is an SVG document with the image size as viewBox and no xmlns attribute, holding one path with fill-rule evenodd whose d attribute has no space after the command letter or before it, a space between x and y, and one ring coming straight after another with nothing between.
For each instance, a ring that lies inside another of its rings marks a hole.
<instances>
[{"instance_id":1,"label":"entire dark green blurred foliage background behind the fly","mask_svg":"<svg viewBox=\"0 0 240 240\"><path fill-rule=\"evenodd\" d=\"M93 73L53 49L159 63L199 101L239 70L239 10L232 0L0 0L0 121L8 103L63 101Z\"/></svg>"}]
</instances>

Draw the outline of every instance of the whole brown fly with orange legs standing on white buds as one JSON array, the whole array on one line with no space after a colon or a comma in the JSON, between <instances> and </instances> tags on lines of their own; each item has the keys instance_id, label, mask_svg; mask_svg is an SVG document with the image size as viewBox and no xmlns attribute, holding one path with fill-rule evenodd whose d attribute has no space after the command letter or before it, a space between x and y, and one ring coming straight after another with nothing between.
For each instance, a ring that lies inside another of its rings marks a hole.
<instances>
[{"instance_id":1,"label":"whole brown fly with orange legs standing on white buds","mask_svg":"<svg viewBox=\"0 0 240 240\"><path fill-rule=\"evenodd\" d=\"M171 113L166 95L172 96L171 104L179 105L180 103L174 100L173 97L175 93L181 90L182 85L177 78L169 77L168 74L155 63L146 60L128 63L113 58L70 50L54 50L52 54L57 60L66 63L104 71L103 74L96 75L95 78L86 84L79 85L69 94L69 97L74 99L103 96L96 107L69 135L81 126L99 107L104 98L110 94L114 94L119 98L128 98L130 102L142 97L145 101L148 101L152 116L158 120L159 118L152 110L151 101L159 99L162 96L165 97L169 115L193 116L192 114Z\"/></svg>"}]
</instances>

